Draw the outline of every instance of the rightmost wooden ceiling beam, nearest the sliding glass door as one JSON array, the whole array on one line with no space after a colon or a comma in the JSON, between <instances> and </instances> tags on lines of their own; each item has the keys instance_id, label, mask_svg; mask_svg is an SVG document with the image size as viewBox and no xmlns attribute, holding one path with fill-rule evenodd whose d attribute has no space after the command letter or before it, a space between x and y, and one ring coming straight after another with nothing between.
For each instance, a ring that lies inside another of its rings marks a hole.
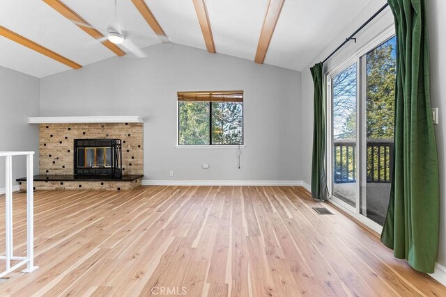
<instances>
[{"instance_id":1,"label":"rightmost wooden ceiling beam, nearest the sliding glass door","mask_svg":"<svg viewBox=\"0 0 446 297\"><path fill-rule=\"evenodd\" d=\"M279 19L280 12L284 6L284 1L285 0L270 0L268 2L268 9L266 10L262 31L260 33L259 45L257 45L256 57L254 58L256 63L263 64L263 61L265 61L272 33L274 33L277 20Z\"/></svg>"}]
</instances>

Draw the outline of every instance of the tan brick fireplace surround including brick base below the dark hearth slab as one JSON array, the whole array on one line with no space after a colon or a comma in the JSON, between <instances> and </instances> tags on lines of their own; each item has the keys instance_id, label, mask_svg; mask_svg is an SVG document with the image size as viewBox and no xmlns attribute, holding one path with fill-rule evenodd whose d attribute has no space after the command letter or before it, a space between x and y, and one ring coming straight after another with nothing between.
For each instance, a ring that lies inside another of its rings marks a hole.
<instances>
[{"instance_id":1,"label":"tan brick fireplace surround including brick base below the dark hearth slab","mask_svg":"<svg viewBox=\"0 0 446 297\"><path fill-rule=\"evenodd\" d=\"M39 166L40 175L72 175L74 166L74 140L111 138L121 139L123 175L144 174L144 124L40 124ZM141 186L141 178L132 182L34 182L36 190L131 190ZM26 183L20 183L26 189Z\"/></svg>"}]
</instances>

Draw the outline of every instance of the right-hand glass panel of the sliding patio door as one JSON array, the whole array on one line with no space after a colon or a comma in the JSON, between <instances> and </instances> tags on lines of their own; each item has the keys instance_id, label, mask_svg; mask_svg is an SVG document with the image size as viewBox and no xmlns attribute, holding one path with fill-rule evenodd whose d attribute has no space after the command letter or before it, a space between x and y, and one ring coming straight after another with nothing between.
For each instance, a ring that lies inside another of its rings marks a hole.
<instances>
[{"instance_id":1,"label":"right-hand glass panel of the sliding patio door","mask_svg":"<svg viewBox=\"0 0 446 297\"><path fill-rule=\"evenodd\" d=\"M393 37L361 57L363 67L363 163L360 213L384 224L392 178L396 41Z\"/></svg>"}]
</instances>

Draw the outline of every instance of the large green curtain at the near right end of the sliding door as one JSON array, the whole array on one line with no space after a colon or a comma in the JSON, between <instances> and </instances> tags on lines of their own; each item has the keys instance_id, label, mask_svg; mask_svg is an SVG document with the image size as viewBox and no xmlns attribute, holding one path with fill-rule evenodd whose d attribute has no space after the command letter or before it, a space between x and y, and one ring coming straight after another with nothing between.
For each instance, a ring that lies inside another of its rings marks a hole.
<instances>
[{"instance_id":1,"label":"large green curtain at the near right end of the sliding door","mask_svg":"<svg viewBox=\"0 0 446 297\"><path fill-rule=\"evenodd\" d=\"M438 159L429 94L424 0L388 0L397 29L392 187L381 241L417 271L433 273L438 249Z\"/></svg>"}]
</instances>

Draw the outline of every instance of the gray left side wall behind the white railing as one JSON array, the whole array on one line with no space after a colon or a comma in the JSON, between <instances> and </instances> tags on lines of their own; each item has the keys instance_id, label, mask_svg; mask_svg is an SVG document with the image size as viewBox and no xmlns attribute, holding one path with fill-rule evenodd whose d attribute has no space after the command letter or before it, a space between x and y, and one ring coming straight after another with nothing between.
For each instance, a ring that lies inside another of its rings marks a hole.
<instances>
[{"instance_id":1,"label":"gray left side wall behind the white railing","mask_svg":"<svg viewBox=\"0 0 446 297\"><path fill-rule=\"evenodd\" d=\"M0 67L0 151L34 151L38 172L38 127L28 117L39 113L39 79ZM26 157L13 157L13 184L26 176ZM5 158L0 157L0 188L5 187Z\"/></svg>"}]
</instances>

